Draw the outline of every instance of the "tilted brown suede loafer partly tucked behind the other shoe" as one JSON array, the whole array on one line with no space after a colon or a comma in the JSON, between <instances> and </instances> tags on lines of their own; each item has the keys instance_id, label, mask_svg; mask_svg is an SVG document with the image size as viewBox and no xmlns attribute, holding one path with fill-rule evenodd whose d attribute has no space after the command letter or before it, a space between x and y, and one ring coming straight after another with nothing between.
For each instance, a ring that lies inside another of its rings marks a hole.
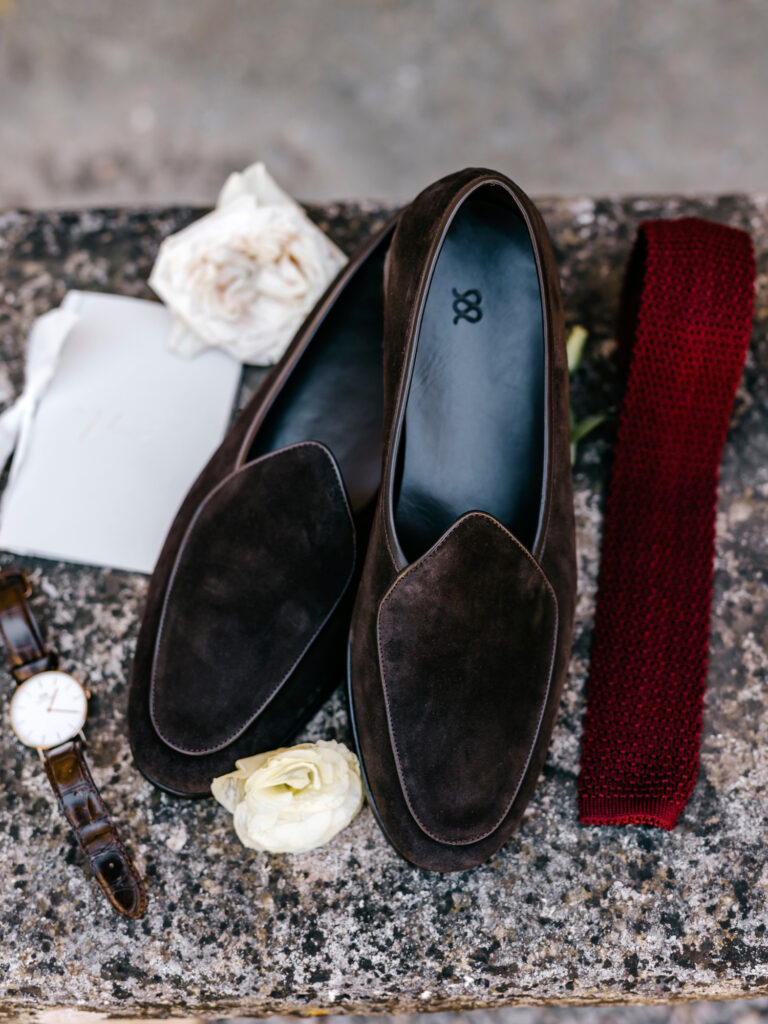
<instances>
[{"instance_id":1,"label":"tilted brown suede loafer partly tucked behind the other shoe","mask_svg":"<svg viewBox=\"0 0 768 1024\"><path fill-rule=\"evenodd\" d=\"M344 267L184 500L150 582L129 730L157 785L210 795L343 678L381 475L382 271Z\"/></svg>"}]
</instances>

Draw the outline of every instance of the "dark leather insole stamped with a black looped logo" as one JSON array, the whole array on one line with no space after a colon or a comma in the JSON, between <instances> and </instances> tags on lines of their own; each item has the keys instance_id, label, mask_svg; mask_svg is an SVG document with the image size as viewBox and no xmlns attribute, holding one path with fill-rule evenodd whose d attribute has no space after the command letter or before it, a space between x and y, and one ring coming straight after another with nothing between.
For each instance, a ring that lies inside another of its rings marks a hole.
<instances>
[{"instance_id":1,"label":"dark leather insole stamped with a black looped logo","mask_svg":"<svg viewBox=\"0 0 768 1024\"><path fill-rule=\"evenodd\" d=\"M468 200L449 228L418 339L394 519L414 561L465 512L489 512L526 547L541 508L544 331L527 228Z\"/></svg>"}]
</instances>

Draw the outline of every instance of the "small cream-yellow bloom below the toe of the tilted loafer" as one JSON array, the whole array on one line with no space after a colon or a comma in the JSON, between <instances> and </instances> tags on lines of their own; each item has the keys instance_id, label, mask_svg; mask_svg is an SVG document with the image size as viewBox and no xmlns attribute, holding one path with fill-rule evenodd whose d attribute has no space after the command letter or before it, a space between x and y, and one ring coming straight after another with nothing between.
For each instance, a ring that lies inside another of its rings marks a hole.
<instances>
[{"instance_id":1,"label":"small cream-yellow bloom below the toe of the tilted loafer","mask_svg":"<svg viewBox=\"0 0 768 1024\"><path fill-rule=\"evenodd\" d=\"M233 815L238 838L252 850L313 850L362 807L357 758L335 739L282 746L236 765L236 771L211 782L211 793Z\"/></svg>"}]
</instances>

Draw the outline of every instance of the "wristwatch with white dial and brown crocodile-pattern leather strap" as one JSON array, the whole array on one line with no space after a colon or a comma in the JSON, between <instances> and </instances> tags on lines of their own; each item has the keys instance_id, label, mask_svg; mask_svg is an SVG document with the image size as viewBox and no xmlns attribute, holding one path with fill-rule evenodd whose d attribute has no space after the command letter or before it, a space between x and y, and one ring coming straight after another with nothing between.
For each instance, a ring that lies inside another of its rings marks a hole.
<instances>
[{"instance_id":1,"label":"wristwatch with white dial and brown crocodile-pattern leather strap","mask_svg":"<svg viewBox=\"0 0 768 1024\"><path fill-rule=\"evenodd\" d=\"M27 746L35 746L80 849L104 896L126 918L140 918L146 893L120 842L85 761L82 729L89 692L58 670L58 657L42 641L28 598L31 587L18 568L0 572L0 634L16 686L10 726Z\"/></svg>"}]
</instances>

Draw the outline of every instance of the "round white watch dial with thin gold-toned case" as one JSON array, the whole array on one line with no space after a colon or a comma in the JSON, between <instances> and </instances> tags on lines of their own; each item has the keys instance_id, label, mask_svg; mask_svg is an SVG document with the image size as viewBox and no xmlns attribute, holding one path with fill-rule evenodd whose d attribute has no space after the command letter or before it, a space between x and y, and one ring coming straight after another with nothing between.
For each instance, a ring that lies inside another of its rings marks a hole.
<instances>
[{"instance_id":1,"label":"round white watch dial with thin gold-toned case","mask_svg":"<svg viewBox=\"0 0 768 1024\"><path fill-rule=\"evenodd\" d=\"M16 687L10 726L23 743L47 750L76 736L87 712L88 697L74 676L40 672Z\"/></svg>"}]
</instances>

